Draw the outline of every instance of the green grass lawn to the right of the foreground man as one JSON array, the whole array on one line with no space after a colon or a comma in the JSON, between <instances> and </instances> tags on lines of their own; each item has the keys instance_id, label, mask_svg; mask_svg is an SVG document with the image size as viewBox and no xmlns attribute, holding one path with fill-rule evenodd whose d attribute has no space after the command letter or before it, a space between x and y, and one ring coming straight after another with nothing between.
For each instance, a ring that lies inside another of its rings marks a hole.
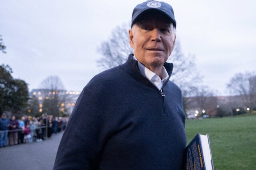
<instances>
[{"instance_id":1,"label":"green grass lawn to the right of the foreground man","mask_svg":"<svg viewBox=\"0 0 256 170\"><path fill-rule=\"evenodd\" d=\"M186 120L188 143L209 134L215 170L256 170L256 116Z\"/></svg>"}]
</instances>

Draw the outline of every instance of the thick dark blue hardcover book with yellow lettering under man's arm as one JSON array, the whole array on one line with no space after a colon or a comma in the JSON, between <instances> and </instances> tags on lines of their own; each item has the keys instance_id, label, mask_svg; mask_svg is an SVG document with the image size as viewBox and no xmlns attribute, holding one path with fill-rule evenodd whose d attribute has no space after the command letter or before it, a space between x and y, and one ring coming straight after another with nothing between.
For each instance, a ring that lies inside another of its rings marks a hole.
<instances>
[{"instance_id":1,"label":"thick dark blue hardcover book with yellow lettering under man's arm","mask_svg":"<svg viewBox=\"0 0 256 170\"><path fill-rule=\"evenodd\" d=\"M185 150L186 170L214 170L209 135L200 135L188 144Z\"/></svg>"}]
</instances>

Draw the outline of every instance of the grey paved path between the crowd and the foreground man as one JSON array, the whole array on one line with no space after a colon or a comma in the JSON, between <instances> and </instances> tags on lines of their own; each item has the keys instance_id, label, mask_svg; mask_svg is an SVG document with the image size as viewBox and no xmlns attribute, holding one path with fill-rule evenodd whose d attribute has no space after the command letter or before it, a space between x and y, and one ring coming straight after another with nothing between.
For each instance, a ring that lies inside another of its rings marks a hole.
<instances>
[{"instance_id":1,"label":"grey paved path between the crowd and the foreground man","mask_svg":"<svg viewBox=\"0 0 256 170\"><path fill-rule=\"evenodd\" d=\"M63 132L51 139L0 148L0 170L52 170Z\"/></svg>"}]
</instances>

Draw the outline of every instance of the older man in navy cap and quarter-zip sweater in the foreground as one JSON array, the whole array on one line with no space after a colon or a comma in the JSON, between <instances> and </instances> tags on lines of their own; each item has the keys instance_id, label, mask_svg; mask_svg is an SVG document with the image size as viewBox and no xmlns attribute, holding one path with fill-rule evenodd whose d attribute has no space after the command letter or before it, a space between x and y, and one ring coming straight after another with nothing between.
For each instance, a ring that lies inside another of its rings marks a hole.
<instances>
[{"instance_id":1,"label":"older man in navy cap and quarter-zip sweater in the foreground","mask_svg":"<svg viewBox=\"0 0 256 170\"><path fill-rule=\"evenodd\" d=\"M180 89L169 81L176 21L165 2L138 4L129 30L134 54L96 75L70 117L54 169L182 168L186 147Z\"/></svg>"}]
</instances>

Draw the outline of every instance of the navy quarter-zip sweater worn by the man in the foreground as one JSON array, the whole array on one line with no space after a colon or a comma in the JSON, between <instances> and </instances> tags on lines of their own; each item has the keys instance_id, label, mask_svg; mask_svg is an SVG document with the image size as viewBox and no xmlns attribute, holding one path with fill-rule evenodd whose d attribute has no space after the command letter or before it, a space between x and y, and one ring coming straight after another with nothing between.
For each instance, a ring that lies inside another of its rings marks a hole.
<instances>
[{"instance_id":1,"label":"navy quarter-zip sweater worn by the man in the foreground","mask_svg":"<svg viewBox=\"0 0 256 170\"><path fill-rule=\"evenodd\" d=\"M185 113L176 84L162 96L126 63L94 76L80 94L60 142L54 170L180 170ZM164 64L169 76L173 65Z\"/></svg>"}]
</instances>

